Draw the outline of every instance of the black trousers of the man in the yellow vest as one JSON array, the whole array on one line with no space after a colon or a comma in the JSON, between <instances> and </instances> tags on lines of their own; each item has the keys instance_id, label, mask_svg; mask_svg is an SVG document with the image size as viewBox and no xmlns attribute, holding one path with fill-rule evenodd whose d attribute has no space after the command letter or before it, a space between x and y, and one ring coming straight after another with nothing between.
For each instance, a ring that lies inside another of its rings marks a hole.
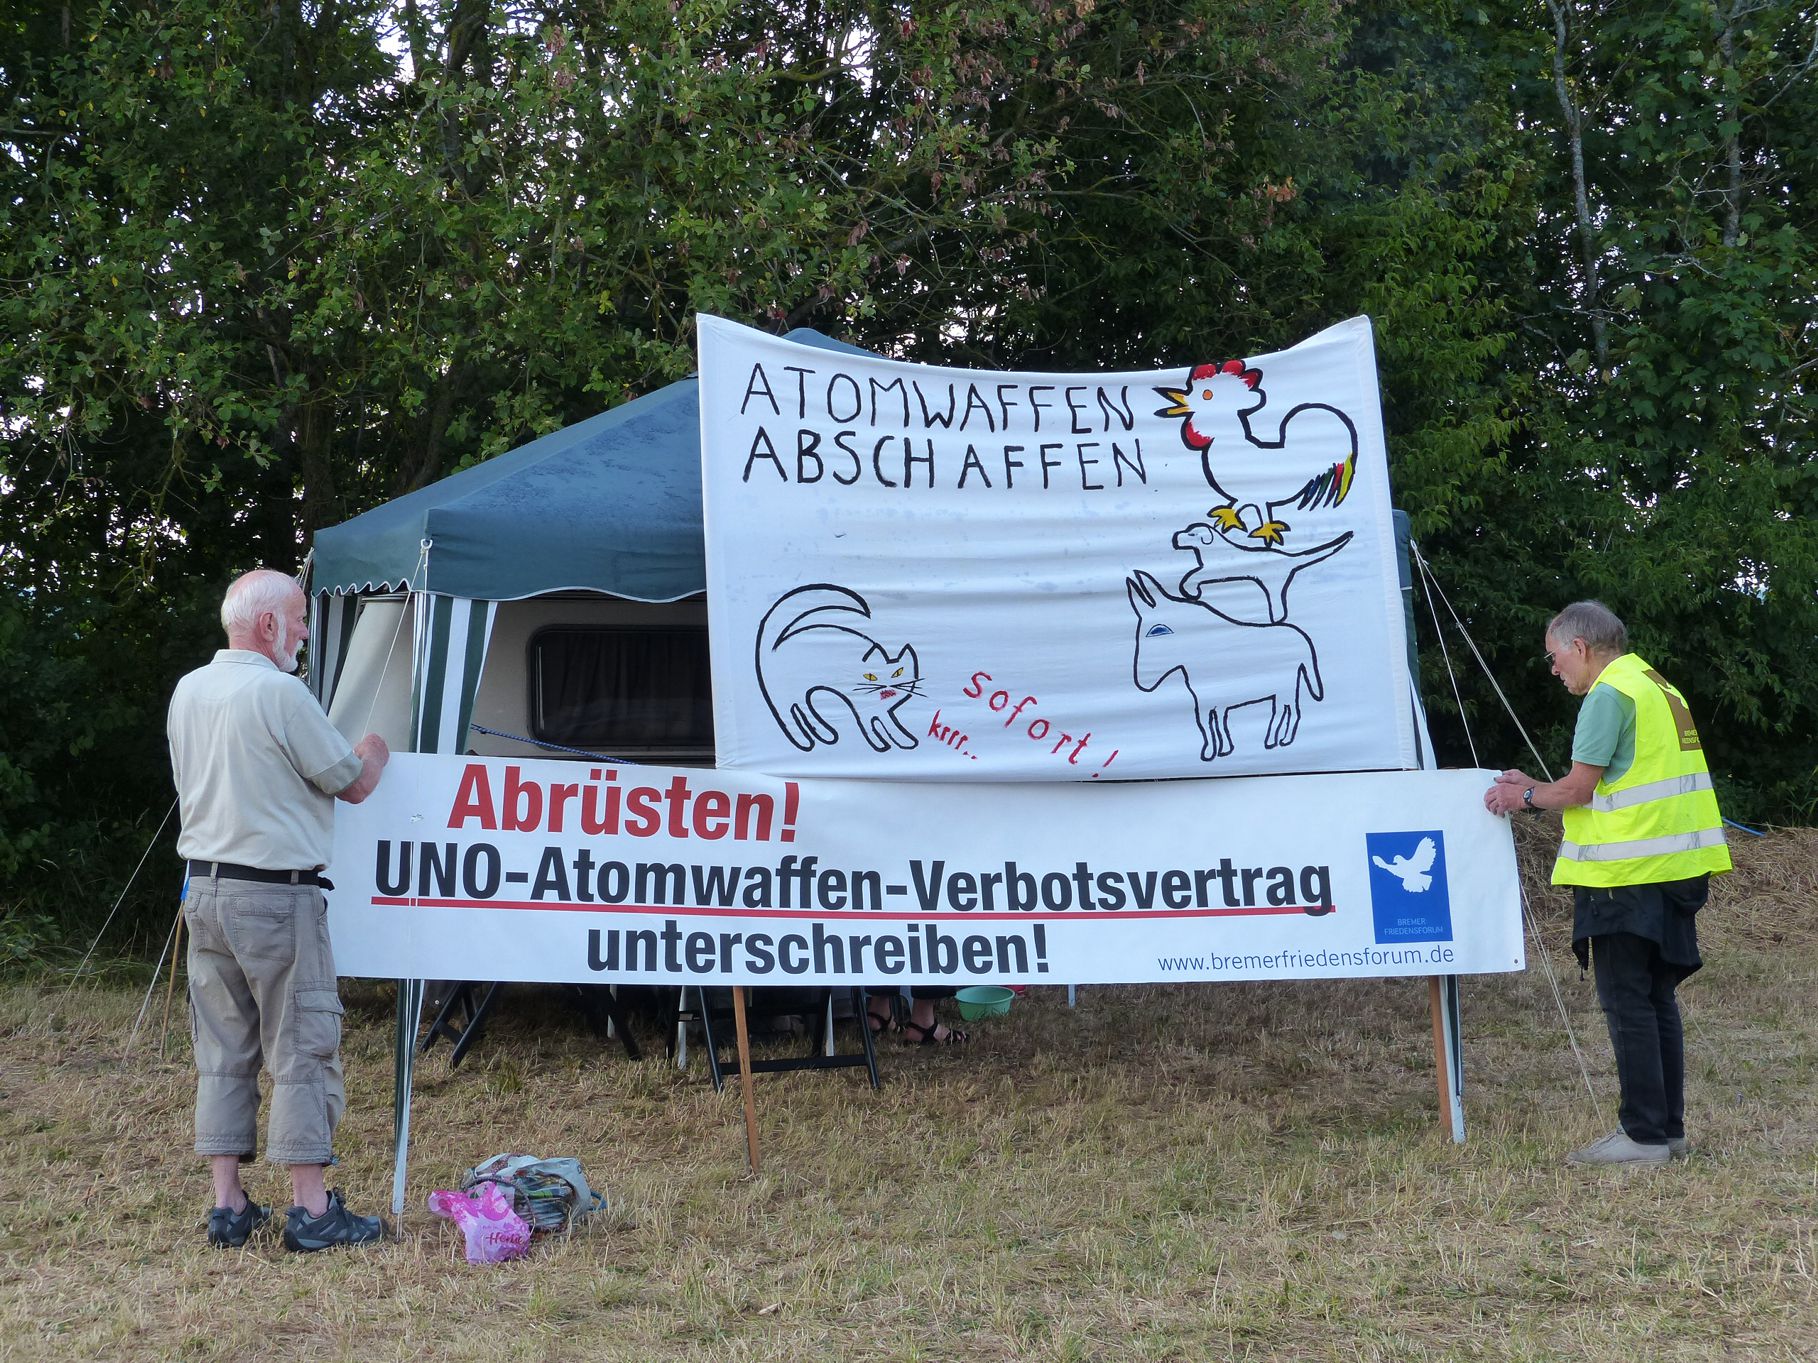
<instances>
[{"instance_id":1,"label":"black trousers of the man in the yellow vest","mask_svg":"<svg viewBox=\"0 0 1818 1363\"><path fill-rule=\"evenodd\" d=\"M1633 932L1591 938L1598 1003L1622 1083L1618 1119L1631 1141L1662 1145L1685 1134L1685 1032L1674 990L1685 970Z\"/></svg>"}]
</instances>

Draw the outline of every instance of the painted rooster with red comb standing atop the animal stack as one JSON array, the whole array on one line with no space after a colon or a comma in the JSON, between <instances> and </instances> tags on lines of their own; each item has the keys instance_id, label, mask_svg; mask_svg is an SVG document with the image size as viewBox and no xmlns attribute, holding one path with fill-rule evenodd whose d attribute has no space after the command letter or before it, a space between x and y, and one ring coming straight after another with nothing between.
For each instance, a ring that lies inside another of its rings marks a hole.
<instances>
[{"instance_id":1,"label":"painted rooster with red comb standing atop the animal stack","mask_svg":"<svg viewBox=\"0 0 1818 1363\"><path fill-rule=\"evenodd\" d=\"M1222 505L1209 511L1225 531L1245 531L1265 545L1289 531L1276 511L1336 507L1351 491L1358 463L1358 429L1336 407L1304 402L1273 433L1260 434L1253 416L1269 394L1262 371L1242 360L1200 365L1182 389L1156 389L1169 405L1156 416L1180 416L1180 438L1200 451L1205 482Z\"/></svg>"}]
</instances>

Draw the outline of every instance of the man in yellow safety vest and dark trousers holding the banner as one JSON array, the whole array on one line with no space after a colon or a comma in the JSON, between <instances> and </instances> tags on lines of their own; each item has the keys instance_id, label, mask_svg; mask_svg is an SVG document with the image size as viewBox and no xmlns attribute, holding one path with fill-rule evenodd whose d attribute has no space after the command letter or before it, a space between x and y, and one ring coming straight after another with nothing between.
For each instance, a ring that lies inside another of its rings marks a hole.
<instances>
[{"instance_id":1,"label":"man in yellow safety vest and dark trousers holding the banner","mask_svg":"<svg viewBox=\"0 0 1818 1363\"><path fill-rule=\"evenodd\" d=\"M1711 874L1729 871L1723 816L1685 698L1629 652L1609 607L1560 611L1547 625L1547 665L1585 698L1573 769L1556 781L1505 771L1483 807L1563 811L1553 883L1573 887L1573 950L1596 974L1622 1085L1620 1130L1567 1161L1663 1165L1689 1149L1674 990L1703 965L1698 909Z\"/></svg>"}]
</instances>

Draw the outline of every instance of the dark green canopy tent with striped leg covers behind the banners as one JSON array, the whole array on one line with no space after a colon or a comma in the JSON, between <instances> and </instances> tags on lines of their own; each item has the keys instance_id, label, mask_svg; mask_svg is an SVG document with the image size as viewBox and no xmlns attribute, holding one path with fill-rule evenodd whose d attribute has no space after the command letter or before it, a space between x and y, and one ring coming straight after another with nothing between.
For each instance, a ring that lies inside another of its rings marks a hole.
<instances>
[{"instance_id":1,"label":"dark green canopy tent with striped leg covers behind the banners","mask_svg":"<svg viewBox=\"0 0 1818 1363\"><path fill-rule=\"evenodd\" d=\"M789 340L867 354L818 331ZM320 531L311 685L327 707L362 596L407 594L409 747L460 752L498 602L564 591L678 602L704 589L700 393L685 378ZM422 980L400 981L393 1212L422 1001Z\"/></svg>"}]
</instances>

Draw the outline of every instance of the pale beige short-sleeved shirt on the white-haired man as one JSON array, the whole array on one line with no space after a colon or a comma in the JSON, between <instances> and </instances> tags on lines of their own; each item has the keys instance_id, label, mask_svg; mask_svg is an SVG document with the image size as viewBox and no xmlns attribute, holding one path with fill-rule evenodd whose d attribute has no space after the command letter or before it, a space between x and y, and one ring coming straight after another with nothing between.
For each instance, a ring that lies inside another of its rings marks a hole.
<instances>
[{"instance_id":1,"label":"pale beige short-sleeved shirt on the white-haired man","mask_svg":"<svg viewBox=\"0 0 1818 1363\"><path fill-rule=\"evenodd\" d=\"M329 863L335 794L362 763L309 687L260 652L222 649L176 683L167 732L180 856L262 871Z\"/></svg>"}]
</instances>

